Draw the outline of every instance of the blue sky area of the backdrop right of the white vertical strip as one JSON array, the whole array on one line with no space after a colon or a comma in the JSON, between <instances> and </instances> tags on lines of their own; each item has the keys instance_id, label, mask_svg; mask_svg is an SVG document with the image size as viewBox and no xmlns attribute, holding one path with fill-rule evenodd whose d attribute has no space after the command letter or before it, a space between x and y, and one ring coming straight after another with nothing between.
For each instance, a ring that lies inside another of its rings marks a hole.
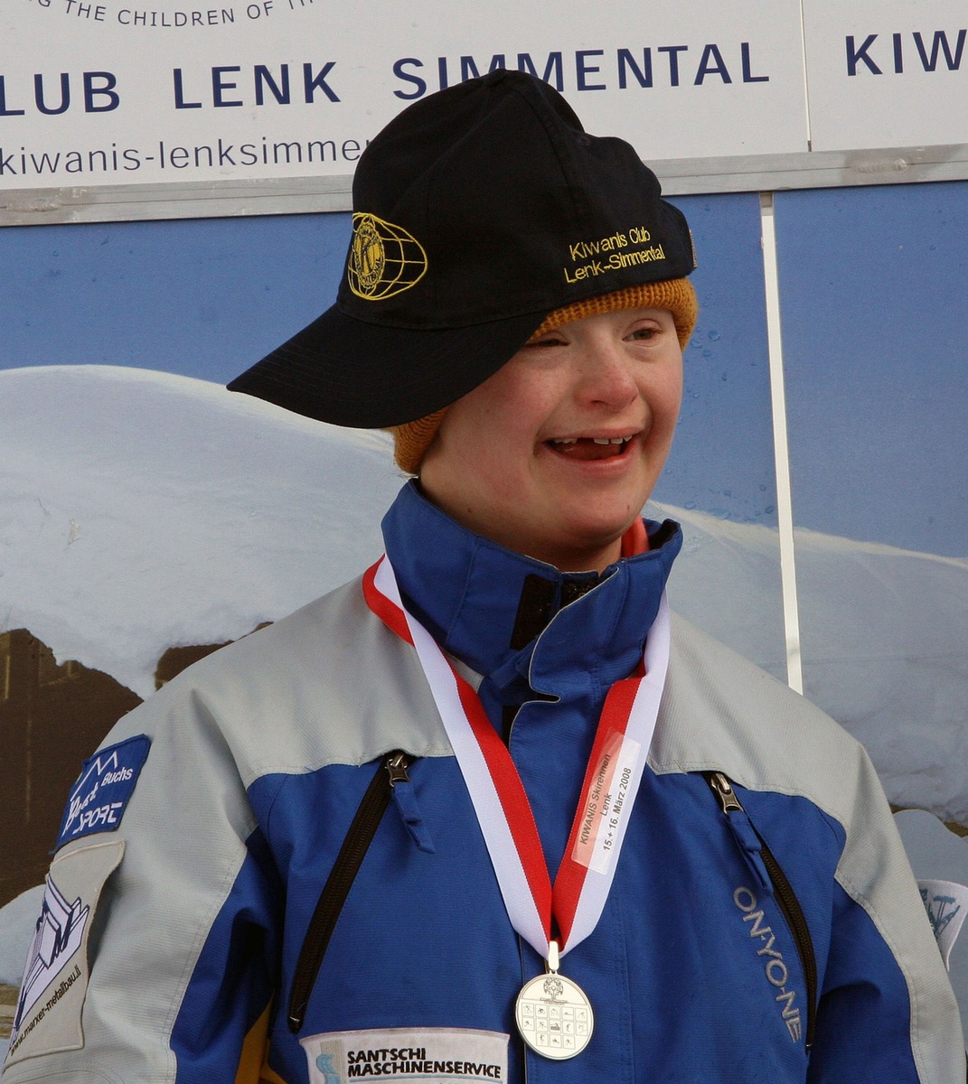
<instances>
[{"instance_id":1,"label":"blue sky area of the backdrop right of the white vertical strip","mask_svg":"<svg viewBox=\"0 0 968 1084\"><path fill-rule=\"evenodd\" d=\"M776 196L799 527L968 556L968 182Z\"/></svg>"}]
</instances>

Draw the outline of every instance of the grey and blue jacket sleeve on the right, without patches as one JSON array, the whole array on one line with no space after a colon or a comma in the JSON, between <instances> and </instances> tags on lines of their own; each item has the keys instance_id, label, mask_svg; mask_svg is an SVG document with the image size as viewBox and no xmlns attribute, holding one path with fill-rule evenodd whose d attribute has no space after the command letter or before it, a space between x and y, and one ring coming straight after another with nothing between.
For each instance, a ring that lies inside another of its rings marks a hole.
<instances>
[{"instance_id":1,"label":"grey and blue jacket sleeve on the right, without patches","mask_svg":"<svg viewBox=\"0 0 968 1084\"><path fill-rule=\"evenodd\" d=\"M837 870L811 1084L960 1084L958 1007L873 765L858 785Z\"/></svg>"}]
</instances>

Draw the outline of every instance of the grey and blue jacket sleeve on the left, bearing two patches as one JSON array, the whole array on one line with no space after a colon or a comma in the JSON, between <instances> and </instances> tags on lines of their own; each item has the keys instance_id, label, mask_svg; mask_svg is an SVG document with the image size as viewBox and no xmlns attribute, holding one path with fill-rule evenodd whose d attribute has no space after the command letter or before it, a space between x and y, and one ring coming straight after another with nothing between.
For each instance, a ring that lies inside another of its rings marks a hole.
<instances>
[{"instance_id":1,"label":"grey and blue jacket sleeve on the left, bearing two patches","mask_svg":"<svg viewBox=\"0 0 968 1084\"><path fill-rule=\"evenodd\" d=\"M281 891L234 751L190 683L85 763L58 843L3 1084L255 1084Z\"/></svg>"}]
</instances>

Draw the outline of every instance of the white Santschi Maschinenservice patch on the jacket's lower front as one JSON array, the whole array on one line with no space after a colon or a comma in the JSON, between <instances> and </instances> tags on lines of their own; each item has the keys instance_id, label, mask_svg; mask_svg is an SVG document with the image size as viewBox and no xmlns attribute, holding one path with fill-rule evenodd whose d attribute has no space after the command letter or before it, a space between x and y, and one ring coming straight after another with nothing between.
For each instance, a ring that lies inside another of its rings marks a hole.
<instances>
[{"instance_id":1,"label":"white Santschi Maschinenservice patch on the jacket's lower front","mask_svg":"<svg viewBox=\"0 0 968 1084\"><path fill-rule=\"evenodd\" d=\"M309 1084L397 1081L434 1084L508 1079L508 1035L467 1028L384 1028L309 1035L300 1043Z\"/></svg>"}]
</instances>

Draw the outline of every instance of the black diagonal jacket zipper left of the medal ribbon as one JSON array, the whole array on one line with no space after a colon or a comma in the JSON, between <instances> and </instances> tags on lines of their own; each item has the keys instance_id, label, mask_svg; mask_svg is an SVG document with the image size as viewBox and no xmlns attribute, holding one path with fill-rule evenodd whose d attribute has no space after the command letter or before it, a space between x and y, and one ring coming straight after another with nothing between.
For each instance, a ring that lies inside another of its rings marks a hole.
<instances>
[{"instance_id":1,"label":"black diagonal jacket zipper left of the medal ribbon","mask_svg":"<svg viewBox=\"0 0 968 1084\"><path fill-rule=\"evenodd\" d=\"M336 919L340 917L349 889L353 887L362 860L373 841L377 828L383 820L393 788L397 783L409 783L407 769L411 763L411 758L399 749L395 749L383 758L383 762L377 769L370 785L364 792L333 868L322 887L303 941L303 947L300 950L289 995L286 1019L289 1020L289 1030L293 1034L296 1034L303 1027L309 995L316 984Z\"/></svg>"}]
</instances>

